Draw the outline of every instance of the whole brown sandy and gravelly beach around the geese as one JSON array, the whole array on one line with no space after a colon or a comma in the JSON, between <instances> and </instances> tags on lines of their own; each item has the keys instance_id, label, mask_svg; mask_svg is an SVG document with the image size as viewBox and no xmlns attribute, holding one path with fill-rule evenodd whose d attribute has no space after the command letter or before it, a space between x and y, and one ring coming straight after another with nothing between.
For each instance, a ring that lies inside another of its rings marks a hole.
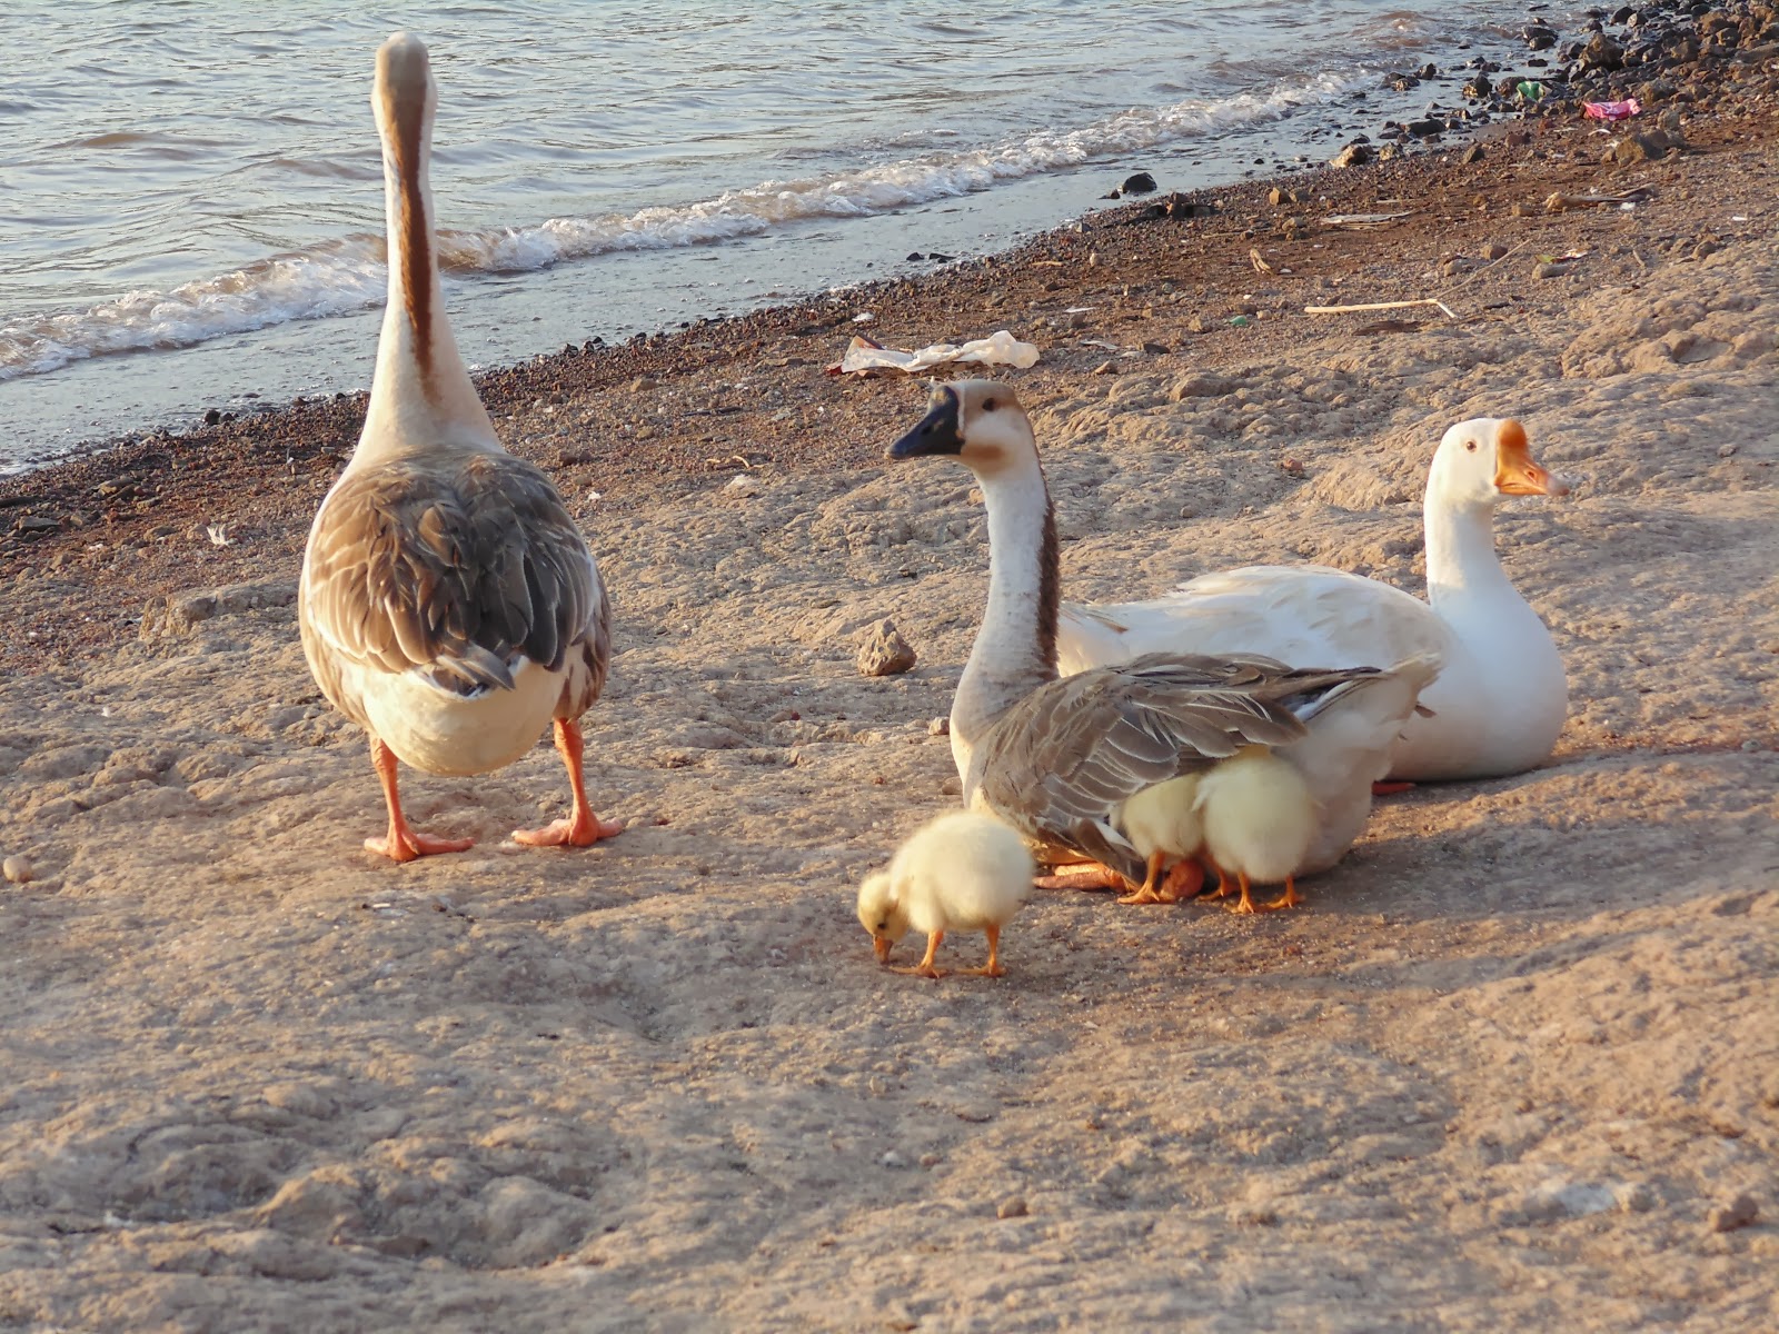
<instances>
[{"instance_id":1,"label":"whole brown sandy and gravelly beach around the geese","mask_svg":"<svg viewBox=\"0 0 1779 1334\"><path fill-rule=\"evenodd\" d=\"M473 850L359 848L290 599L363 400L0 480L0 1329L1779 1327L1779 64L1717 68L1660 160L1569 110L486 377L612 591L592 850L507 840L546 745L404 775ZM1519 418L1555 756L1292 912L1048 893L1003 980L881 971L987 550L882 461L925 386L825 374L861 329L1041 347L1078 599L1420 591L1439 434Z\"/></svg>"}]
</instances>

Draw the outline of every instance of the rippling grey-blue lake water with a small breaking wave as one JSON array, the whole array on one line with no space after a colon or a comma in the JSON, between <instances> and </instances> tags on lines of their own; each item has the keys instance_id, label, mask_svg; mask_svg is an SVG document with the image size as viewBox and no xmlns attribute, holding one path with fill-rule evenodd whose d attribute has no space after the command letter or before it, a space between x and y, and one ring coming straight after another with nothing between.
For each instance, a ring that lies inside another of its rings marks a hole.
<instances>
[{"instance_id":1,"label":"rippling grey-blue lake water with a small breaking wave","mask_svg":"<svg viewBox=\"0 0 1779 1334\"><path fill-rule=\"evenodd\" d=\"M1523 21L1469 0L0 9L0 470L368 384L370 68L402 27L432 50L447 302L486 366L1003 249L1137 169L1190 189L1322 160L1461 82L1382 73L1512 59Z\"/></svg>"}]
</instances>

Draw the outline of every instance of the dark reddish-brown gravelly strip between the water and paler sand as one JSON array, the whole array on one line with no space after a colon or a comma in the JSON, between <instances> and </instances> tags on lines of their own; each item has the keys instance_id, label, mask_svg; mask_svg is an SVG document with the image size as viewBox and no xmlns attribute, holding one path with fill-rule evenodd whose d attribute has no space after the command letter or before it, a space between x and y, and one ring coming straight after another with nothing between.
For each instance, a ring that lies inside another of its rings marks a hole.
<instances>
[{"instance_id":1,"label":"dark reddish-brown gravelly strip between the water and paler sand","mask_svg":"<svg viewBox=\"0 0 1779 1334\"><path fill-rule=\"evenodd\" d=\"M824 374L859 329L922 347L1005 327L1041 345L1021 382L1042 393L1082 374L1219 366L1338 324L1381 324L1302 313L1309 304L1443 299L1461 325L1501 311L1560 317L1578 286L1651 281L1653 265L1688 261L1701 247L1770 238L1754 178L1729 158L1770 165L1775 76L1736 62L1720 62L1717 75L1674 103L1686 148L1658 162L1603 164L1605 146L1644 121L1606 135L1571 107L1494 125L1471 141L1477 148L1190 192L1213 203L1210 217L1153 219L1160 196L1139 197L939 272L589 343L591 352L566 349L480 374L477 384L509 450L550 470L587 519L594 505L614 514L696 494L738 459L779 473L875 464L914 393L898 377ZM1551 194L1590 190L1642 194L1630 212L1546 212ZM1742 203L1701 213L1699 196ZM1368 212L1411 217L1379 229L1322 222ZM1270 272L1254 269L1251 251ZM1573 272L1535 277L1535 256L1576 251L1587 256ZM1091 309L1071 313L1082 306ZM873 318L857 324L866 309ZM1452 324L1430 308L1395 317ZM30 671L132 633L141 599L126 594L119 610L119 585L158 598L201 580L263 576L267 562L294 569L308 519L356 443L363 402L363 393L299 398L0 477L0 578L57 576L87 617L27 614L21 633L0 646L0 667ZM217 523L228 546L208 537ZM69 582L75 571L82 582Z\"/></svg>"}]
</instances>

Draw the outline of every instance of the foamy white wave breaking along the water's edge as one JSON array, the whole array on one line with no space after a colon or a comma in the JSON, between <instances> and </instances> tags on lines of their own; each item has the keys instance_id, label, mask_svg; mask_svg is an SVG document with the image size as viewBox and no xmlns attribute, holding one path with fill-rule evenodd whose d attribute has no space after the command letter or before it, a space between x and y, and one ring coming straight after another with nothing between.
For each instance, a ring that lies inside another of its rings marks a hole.
<instances>
[{"instance_id":1,"label":"foamy white wave breaking along the water's edge","mask_svg":"<svg viewBox=\"0 0 1779 1334\"><path fill-rule=\"evenodd\" d=\"M527 272L612 251L715 244L804 219L884 213L975 194L996 181L1279 119L1299 107L1324 103L1347 87L1340 78L1324 76L1281 85L1270 94L1238 94L1220 101L1188 98L1160 108L1130 108L1076 130L1044 130L986 148L934 149L833 176L761 181L683 206L553 217L525 228L441 231L439 261L455 274ZM85 311L43 315L0 327L0 381L52 372L94 356L190 347L274 324L343 315L377 304L384 292L382 238L349 237L171 292L132 292Z\"/></svg>"}]
</instances>

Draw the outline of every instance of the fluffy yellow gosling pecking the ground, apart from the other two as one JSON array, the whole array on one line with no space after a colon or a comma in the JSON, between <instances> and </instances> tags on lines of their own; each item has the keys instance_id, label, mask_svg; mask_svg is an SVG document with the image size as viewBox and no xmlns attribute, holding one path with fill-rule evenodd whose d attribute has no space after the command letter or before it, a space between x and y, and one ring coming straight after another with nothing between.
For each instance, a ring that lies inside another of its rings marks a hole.
<instances>
[{"instance_id":1,"label":"fluffy yellow gosling pecking the ground, apart from the other two","mask_svg":"<svg viewBox=\"0 0 1779 1334\"><path fill-rule=\"evenodd\" d=\"M934 955L945 932L980 930L989 941L982 968L966 976L1005 976L1000 962L1002 927L1032 893L1032 854L1012 829L987 815L952 811L930 820L897 848L890 870L859 884L859 923L872 934L877 962L909 927L927 934L927 953L897 973L939 978Z\"/></svg>"}]
</instances>

